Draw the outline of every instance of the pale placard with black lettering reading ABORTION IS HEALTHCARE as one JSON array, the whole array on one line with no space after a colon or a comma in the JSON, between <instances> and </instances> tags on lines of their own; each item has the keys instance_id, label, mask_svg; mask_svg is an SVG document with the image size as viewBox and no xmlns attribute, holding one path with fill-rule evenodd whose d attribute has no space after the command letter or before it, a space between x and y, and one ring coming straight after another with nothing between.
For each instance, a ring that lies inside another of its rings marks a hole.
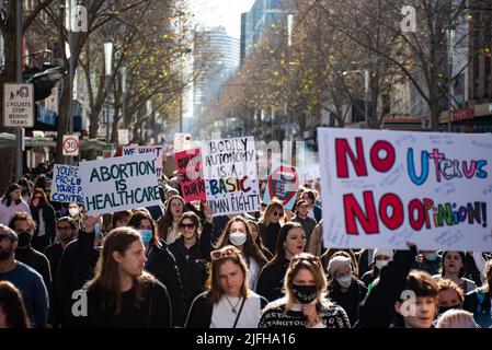
<instances>
[{"instance_id":1,"label":"pale placard with black lettering reading ABORTION IS HEALTHCARE","mask_svg":"<svg viewBox=\"0 0 492 350\"><path fill-rule=\"evenodd\" d=\"M82 162L79 171L89 214L160 205L153 153Z\"/></svg>"}]
</instances>

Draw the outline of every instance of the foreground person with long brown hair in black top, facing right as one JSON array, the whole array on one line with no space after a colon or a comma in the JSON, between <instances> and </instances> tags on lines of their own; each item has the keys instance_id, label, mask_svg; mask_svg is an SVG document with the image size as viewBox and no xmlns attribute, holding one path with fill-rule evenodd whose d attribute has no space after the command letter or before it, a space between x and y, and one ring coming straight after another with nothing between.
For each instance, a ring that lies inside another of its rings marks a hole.
<instances>
[{"instance_id":1,"label":"foreground person with long brown hair in black top, facing right","mask_svg":"<svg viewBox=\"0 0 492 350\"><path fill-rule=\"evenodd\" d=\"M147 258L140 234L130 228L110 232L84 291L85 326L93 328L171 327L165 287L144 270Z\"/></svg>"}]
</instances>

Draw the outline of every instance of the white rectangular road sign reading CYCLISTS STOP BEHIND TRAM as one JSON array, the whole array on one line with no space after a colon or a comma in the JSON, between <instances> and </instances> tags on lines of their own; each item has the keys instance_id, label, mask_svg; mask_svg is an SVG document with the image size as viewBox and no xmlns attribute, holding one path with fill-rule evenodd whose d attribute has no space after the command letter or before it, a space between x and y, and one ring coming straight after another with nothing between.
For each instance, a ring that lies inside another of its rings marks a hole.
<instances>
[{"instance_id":1,"label":"white rectangular road sign reading CYCLISTS STOP BEHIND TRAM","mask_svg":"<svg viewBox=\"0 0 492 350\"><path fill-rule=\"evenodd\" d=\"M22 83L4 84L3 126L8 128L34 127L33 84L22 84Z\"/></svg>"}]
</instances>

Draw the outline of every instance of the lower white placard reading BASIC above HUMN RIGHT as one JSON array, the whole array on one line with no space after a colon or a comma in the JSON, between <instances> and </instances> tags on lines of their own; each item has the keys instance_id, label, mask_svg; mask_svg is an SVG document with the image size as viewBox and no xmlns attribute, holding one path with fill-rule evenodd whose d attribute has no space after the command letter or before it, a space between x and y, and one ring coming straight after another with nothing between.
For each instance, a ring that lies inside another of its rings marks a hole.
<instances>
[{"instance_id":1,"label":"lower white placard reading BASIC above HUMN RIGHT","mask_svg":"<svg viewBox=\"0 0 492 350\"><path fill-rule=\"evenodd\" d=\"M214 217L261 210L258 179L248 177L207 179L205 188Z\"/></svg>"}]
</instances>

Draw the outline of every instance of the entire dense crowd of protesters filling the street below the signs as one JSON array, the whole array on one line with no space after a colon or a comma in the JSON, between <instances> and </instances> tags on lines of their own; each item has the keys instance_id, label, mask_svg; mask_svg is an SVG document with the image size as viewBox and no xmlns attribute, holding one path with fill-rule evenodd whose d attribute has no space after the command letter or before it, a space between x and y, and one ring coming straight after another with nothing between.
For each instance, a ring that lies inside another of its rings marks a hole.
<instances>
[{"instance_id":1,"label":"entire dense crowd of protesters filling the street below the signs","mask_svg":"<svg viewBox=\"0 0 492 350\"><path fill-rule=\"evenodd\" d=\"M489 254L328 247L319 182L293 210L213 217L163 176L160 206L93 217L50 202L50 176L0 198L0 327L492 325Z\"/></svg>"}]
</instances>

